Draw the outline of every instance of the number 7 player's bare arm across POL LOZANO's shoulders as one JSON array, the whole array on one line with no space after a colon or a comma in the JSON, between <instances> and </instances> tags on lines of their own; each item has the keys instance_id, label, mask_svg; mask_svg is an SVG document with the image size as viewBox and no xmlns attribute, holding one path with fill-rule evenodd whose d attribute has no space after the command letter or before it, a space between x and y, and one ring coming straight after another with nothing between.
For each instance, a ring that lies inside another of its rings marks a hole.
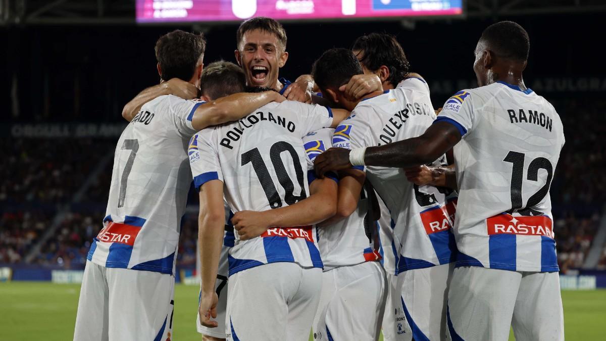
<instances>
[{"instance_id":1,"label":"number 7 player's bare arm across POL LOZANO's shoulders","mask_svg":"<svg viewBox=\"0 0 606 341\"><path fill-rule=\"evenodd\" d=\"M208 126L239 120L267 103L285 100L284 96L275 91L235 93L198 106L193 114L191 126L202 130Z\"/></svg>"}]
</instances>

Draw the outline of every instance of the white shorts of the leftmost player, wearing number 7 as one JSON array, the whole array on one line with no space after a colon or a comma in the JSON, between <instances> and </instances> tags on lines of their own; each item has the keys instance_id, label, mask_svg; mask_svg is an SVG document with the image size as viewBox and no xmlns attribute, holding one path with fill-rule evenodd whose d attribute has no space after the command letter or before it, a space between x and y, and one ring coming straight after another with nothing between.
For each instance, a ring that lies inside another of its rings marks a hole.
<instances>
[{"instance_id":1,"label":"white shorts of the leftmost player, wearing number 7","mask_svg":"<svg viewBox=\"0 0 606 341\"><path fill-rule=\"evenodd\" d=\"M175 277L86 262L74 340L167 340Z\"/></svg>"}]
</instances>

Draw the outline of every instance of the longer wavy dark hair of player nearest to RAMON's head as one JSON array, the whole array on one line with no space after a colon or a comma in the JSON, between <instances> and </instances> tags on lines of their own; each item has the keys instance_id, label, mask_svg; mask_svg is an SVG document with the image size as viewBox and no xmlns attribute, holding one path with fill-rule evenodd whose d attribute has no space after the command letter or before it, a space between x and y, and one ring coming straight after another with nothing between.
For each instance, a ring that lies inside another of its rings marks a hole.
<instances>
[{"instance_id":1,"label":"longer wavy dark hair of player nearest to RAMON's head","mask_svg":"<svg viewBox=\"0 0 606 341\"><path fill-rule=\"evenodd\" d=\"M375 72L381 66L389 69L387 81L396 86L408 77L410 63L395 36L387 33L370 33L356 39L351 50L360 50L364 53L360 62Z\"/></svg>"}]
</instances>

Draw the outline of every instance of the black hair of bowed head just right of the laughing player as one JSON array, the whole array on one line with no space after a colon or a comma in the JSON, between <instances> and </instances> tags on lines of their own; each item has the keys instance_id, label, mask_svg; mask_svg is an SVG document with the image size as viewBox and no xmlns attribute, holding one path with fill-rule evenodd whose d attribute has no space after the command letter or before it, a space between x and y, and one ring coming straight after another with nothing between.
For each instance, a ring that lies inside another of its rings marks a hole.
<instances>
[{"instance_id":1,"label":"black hair of bowed head just right of the laughing player","mask_svg":"<svg viewBox=\"0 0 606 341\"><path fill-rule=\"evenodd\" d=\"M330 49L313 63L311 75L322 91L338 89L352 76L364 73L358 58L348 49Z\"/></svg>"}]
</instances>

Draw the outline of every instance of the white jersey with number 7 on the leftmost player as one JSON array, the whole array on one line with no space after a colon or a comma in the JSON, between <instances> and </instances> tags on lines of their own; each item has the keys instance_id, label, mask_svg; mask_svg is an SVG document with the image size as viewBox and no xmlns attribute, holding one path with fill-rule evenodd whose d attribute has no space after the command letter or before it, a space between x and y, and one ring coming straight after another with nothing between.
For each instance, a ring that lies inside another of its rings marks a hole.
<instances>
[{"instance_id":1,"label":"white jersey with number 7 on the leftmost player","mask_svg":"<svg viewBox=\"0 0 606 341\"><path fill-rule=\"evenodd\" d=\"M191 173L187 142L203 101L159 96L124 129L114 157L104 228L88 260L107 268L174 274Z\"/></svg>"}]
</instances>

